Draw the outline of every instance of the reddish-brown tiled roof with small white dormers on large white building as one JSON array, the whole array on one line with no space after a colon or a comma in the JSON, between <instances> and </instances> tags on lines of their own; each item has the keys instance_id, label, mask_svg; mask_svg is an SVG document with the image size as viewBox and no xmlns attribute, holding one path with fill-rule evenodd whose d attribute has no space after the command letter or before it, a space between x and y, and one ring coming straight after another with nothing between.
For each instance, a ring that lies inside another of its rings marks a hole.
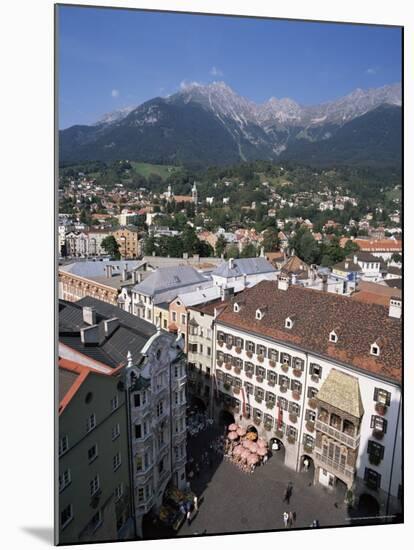
<instances>
[{"instance_id":1,"label":"reddish-brown tiled roof with small white dormers on large white building","mask_svg":"<svg viewBox=\"0 0 414 550\"><path fill-rule=\"evenodd\" d=\"M235 300L240 301L240 297L245 302L241 313L227 307L219 322L401 381L402 323L388 316L388 308L299 286L279 290L274 281L262 281ZM256 309L265 305L268 312L259 321ZM296 321L286 329L285 319L293 315ZM329 333L334 329L336 344L329 342ZM380 336L384 344L376 357L370 354L370 348Z\"/></svg>"}]
</instances>

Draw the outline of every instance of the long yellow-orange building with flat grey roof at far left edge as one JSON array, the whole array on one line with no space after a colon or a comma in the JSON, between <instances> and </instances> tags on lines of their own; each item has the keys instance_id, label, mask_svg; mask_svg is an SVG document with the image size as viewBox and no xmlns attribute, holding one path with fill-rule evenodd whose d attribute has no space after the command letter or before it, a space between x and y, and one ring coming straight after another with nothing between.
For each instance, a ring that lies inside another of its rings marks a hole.
<instances>
[{"instance_id":1,"label":"long yellow-orange building with flat grey roof at far left edge","mask_svg":"<svg viewBox=\"0 0 414 550\"><path fill-rule=\"evenodd\" d=\"M59 266L59 298L76 302L85 296L91 296L118 304L118 295L124 286L137 282L135 269L137 261L79 261Z\"/></svg>"}]
</instances>

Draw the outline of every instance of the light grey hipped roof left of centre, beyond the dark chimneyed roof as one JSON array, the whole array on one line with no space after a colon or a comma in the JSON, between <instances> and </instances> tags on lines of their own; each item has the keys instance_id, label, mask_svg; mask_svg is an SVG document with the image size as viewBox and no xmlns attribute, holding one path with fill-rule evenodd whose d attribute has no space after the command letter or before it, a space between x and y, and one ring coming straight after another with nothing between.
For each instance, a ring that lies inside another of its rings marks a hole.
<instances>
[{"instance_id":1,"label":"light grey hipped roof left of centre, beyond the dark chimneyed roof","mask_svg":"<svg viewBox=\"0 0 414 550\"><path fill-rule=\"evenodd\" d=\"M206 277L187 265L160 267L149 277L133 287L134 292L155 296L166 291L172 291L188 285L205 283ZM163 300L167 301L167 300Z\"/></svg>"}]
</instances>

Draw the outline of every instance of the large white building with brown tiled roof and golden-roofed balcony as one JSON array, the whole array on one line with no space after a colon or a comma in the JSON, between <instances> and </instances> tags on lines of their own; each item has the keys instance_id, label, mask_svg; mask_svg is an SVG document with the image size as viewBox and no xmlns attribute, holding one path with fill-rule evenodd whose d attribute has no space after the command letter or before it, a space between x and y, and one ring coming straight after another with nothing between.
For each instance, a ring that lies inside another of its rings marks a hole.
<instances>
[{"instance_id":1,"label":"large white building with brown tiled roof and golden-roofed balcony","mask_svg":"<svg viewBox=\"0 0 414 550\"><path fill-rule=\"evenodd\" d=\"M216 414L314 482L401 510L402 301L389 307L263 281L215 322Z\"/></svg>"}]
</instances>

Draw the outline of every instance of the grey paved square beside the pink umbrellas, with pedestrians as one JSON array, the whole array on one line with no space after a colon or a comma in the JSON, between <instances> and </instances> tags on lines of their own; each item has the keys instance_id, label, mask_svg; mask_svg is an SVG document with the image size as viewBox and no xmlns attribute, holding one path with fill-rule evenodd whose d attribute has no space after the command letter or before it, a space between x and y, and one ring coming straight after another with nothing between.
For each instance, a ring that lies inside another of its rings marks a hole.
<instances>
[{"instance_id":1,"label":"grey paved square beside the pink umbrellas, with pedestrians","mask_svg":"<svg viewBox=\"0 0 414 550\"><path fill-rule=\"evenodd\" d=\"M209 447L213 430L189 442L189 454L198 459ZM216 457L217 455L213 455ZM201 461L200 461L201 463ZM277 455L252 475L242 473L227 461L216 459L212 468L201 463L201 472L191 481L198 495L199 512L191 524L184 524L178 536L284 529L284 511L296 512L296 527L349 525L343 496L312 484L313 472L296 473ZM287 483L293 484L289 505L283 502Z\"/></svg>"}]
</instances>

